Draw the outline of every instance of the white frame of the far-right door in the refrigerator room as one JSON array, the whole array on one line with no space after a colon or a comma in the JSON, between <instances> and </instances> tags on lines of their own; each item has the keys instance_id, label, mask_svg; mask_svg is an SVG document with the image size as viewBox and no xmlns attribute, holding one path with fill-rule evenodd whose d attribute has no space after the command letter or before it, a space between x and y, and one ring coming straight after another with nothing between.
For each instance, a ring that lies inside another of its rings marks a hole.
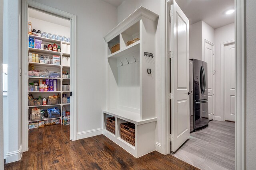
<instances>
[{"instance_id":1,"label":"white frame of the far-right door in the refrigerator room","mask_svg":"<svg viewBox=\"0 0 256 170\"><path fill-rule=\"evenodd\" d=\"M235 40L226 41L220 43L220 90L221 90L221 119L220 121L225 121L225 46L234 44Z\"/></svg>"}]
</instances>

